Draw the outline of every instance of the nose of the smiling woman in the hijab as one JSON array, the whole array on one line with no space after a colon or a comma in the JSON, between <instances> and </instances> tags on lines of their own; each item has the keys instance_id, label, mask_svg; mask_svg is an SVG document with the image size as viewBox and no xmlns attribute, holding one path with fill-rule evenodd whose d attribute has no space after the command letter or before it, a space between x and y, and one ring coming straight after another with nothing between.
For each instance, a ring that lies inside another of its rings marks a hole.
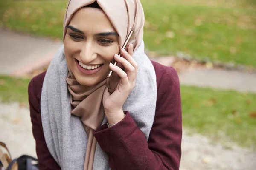
<instances>
[{"instance_id":1,"label":"nose of the smiling woman in the hijab","mask_svg":"<svg viewBox=\"0 0 256 170\"><path fill-rule=\"evenodd\" d=\"M80 57L84 63L90 63L94 59L96 59L97 53L96 50L93 48L93 45L84 45L84 48L82 48L80 52Z\"/></svg>"}]
</instances>

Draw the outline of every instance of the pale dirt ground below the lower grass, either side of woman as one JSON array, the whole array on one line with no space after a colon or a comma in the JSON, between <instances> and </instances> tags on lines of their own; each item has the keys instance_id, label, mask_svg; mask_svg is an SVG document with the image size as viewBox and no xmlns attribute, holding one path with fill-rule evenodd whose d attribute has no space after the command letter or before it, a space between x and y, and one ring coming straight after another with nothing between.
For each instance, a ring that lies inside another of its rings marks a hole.
<instances>
[{"instance_id":1,"label":"pale dirt ground below the lower grass, either side of woman","mask_svg":"<svg viewBox=\"0 0 256 170\"><path fill-rule=\"evenodd\" d=\"M18 103L0 103L0 141L15 158L36 156L29 109ZM186 131L186 130L184 130ZM180 170L256 170L256 152L239 147L213 145L204 136L183 133Z\"/></svg>"}]
</instances>

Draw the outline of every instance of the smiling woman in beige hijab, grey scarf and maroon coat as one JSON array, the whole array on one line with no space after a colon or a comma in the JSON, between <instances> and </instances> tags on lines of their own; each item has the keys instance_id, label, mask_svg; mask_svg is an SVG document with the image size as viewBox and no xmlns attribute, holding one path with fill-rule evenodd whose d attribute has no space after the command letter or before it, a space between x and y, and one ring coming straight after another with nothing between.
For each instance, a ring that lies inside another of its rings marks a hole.
<instances>
[{"instance_id":1,"label":"smiling woman in beige hijab, grey scarf and maroon coat","mask_svg":"<svg viewBox=\"0 0 256 170\"><path fill-rule=\"evenodd\" d=\"M40 169L179 169L179 80L173 68L145 55L143 25L139 0L69 1L64 46L29 83ZM135 42L126 52L131 31ZM110 70L121 77L112 94Z\"/></svg>"}]
</instances>

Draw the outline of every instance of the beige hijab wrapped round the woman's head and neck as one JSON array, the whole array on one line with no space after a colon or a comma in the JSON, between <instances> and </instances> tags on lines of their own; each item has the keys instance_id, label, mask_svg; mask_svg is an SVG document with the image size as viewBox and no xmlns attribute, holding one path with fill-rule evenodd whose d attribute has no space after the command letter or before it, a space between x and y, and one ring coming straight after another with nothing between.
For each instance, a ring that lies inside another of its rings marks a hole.
<instances>
[{"instance_id":1,"label":"beige hijab wrapped round the woman's head and neck","mask_svg":"<svg viewBox=\"0 0 256 170\"><path fill-rule=\"evenodd\" d=\"M135 50L143 40L144 12L139 0L96 0L119 34L121 48L131 30L135 33ZM69 0L63 24L63 40L73 14L84 6L94 3L95 0ZM65 47L64 47L65 48ZM93 159L96 148L96 139L93 131L102 123L105 113L102 105L102 96L106 88L105 80L94 86L79 84L68 67L68 90L70 92L73 115L81 117L88 135L87 151L84 161L84 170L93 169Z\"/></svg>"}]
</instances>

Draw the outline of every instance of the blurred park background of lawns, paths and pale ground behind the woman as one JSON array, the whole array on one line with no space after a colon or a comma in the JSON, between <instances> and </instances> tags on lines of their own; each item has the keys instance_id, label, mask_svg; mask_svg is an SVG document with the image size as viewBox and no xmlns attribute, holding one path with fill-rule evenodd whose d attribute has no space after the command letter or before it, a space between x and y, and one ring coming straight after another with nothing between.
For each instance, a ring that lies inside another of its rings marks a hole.
<instances>
[{"instance_id":1,"label":"blurred park background of lawns, paths and pale ground behind the woman","mask_svg":"<svg viewBox=\"0 0 256 170\"><path fill-rule=\"evenodd\" d=\"M181 169L253 170L256 1L141 3L148 56L175 67L180 75L184 129ZM61 45L67 0L1 0L0 6L0 66L4 68L0 68L0 141L6 142L14 156L34 155L27 86L33 76L47 69L49 63L41 59L49 58ZM41 41L54 49L38 45L40 52L35 53L33 42ZM7 42L13 45L11 49ZM27 60L20 48L30 55L33 51L35 60ZM42 49L49 51L42 53ZM35 68L29 62L44 64ZM24 67L31 69L24 71Z\"/></svg>"}]
</instances>

